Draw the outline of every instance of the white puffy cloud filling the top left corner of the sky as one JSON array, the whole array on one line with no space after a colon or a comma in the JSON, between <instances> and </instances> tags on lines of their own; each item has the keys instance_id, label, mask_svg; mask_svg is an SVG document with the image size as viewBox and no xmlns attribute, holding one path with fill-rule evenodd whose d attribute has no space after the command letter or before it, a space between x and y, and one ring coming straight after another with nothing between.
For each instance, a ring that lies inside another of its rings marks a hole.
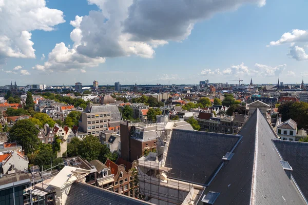
<instances>
[{"instance_id":1,"label":"white puffy cloud filling the top left corner of the sky","mask_svg":"<svg viewBox=\"0 0 308 205\"><path fill-rule=\"evenodd\" d=\"M45 0L0 1L0 57L35 58L31 33L52 31L64 23L63 12L46 7Z\"/></svg>"}]
</instances>

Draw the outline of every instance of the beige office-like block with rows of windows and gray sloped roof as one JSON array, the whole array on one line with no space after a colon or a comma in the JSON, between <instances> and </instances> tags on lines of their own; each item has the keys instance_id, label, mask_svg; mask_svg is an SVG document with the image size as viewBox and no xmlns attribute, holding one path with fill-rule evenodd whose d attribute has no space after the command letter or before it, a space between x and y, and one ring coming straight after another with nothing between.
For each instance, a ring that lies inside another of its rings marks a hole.
<instances>
[{"instance_id":1,"label":"beige office-like block with rows of windows and gray sloped roof","mask_svg":"<svg viewBox=\"0 0 308 205\"><path fill-rule=\"evenodd\" d=\"M101 131L108 129L108 123L120 121L121 114L116 105L93 105L88 103L81 114L79 127L85 133L99 136Z\"/></svg>"}]
</instances>

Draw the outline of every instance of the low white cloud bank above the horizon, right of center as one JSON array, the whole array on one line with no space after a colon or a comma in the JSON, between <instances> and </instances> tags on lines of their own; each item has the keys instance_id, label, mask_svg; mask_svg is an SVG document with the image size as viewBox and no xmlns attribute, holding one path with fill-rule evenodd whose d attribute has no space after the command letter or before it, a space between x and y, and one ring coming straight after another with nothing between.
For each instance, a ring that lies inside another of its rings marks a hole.
<instances>
[{"instance_id":1,"label":"low white cloud bank above the horizon, right of center","mask_svg":"<svg viewBox=\"0 0 308 205\"><path fill-rule=\"evenodd\" d=\"M204 69L201 71L201 75L230 75L230 76L262 76L262 77L272 77L279 76L280 73L286 68L286 64L279 65L276 67L266 66L262 64L255 64L254 68L248 68L244 63L240 65L233 65L229 68L226 68L222 71L220 69L211 70Z\"/></svg>"}]
</instances>

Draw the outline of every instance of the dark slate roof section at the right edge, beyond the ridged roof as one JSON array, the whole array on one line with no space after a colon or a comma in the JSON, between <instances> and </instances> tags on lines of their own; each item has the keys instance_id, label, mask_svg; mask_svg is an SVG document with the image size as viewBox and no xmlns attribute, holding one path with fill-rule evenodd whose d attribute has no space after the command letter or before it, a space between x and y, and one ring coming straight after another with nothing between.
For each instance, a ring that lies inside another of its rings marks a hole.
<instances>
[{"instance_id":1,"label":"dark slate roof section at the right edge, beyond the ridged roof","mask_svg":"<svg viewBox=\"0 0 308 205\"><path fill-rule=\"evenodd\" d=\"M308 198L308 143L279 139L273 141L283 160L290 163L295 181L304 196Z\"/></svg>"}]
</instances>

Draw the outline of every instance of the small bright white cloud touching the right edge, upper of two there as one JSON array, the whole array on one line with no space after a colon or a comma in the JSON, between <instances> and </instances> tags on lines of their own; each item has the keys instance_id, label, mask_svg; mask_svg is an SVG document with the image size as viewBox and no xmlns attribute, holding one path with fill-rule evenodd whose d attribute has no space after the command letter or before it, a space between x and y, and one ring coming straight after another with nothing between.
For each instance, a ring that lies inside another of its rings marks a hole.
<instances>
[{"instance_id":1,"label":"small bright white cloud touching the right edge, upper of two there","mask_svg":"<svg viewBox=\"0 0 308 205\"><path fill-rule=\"evenodd\" d=\"M295 43L295 42L308 42L308 31L294 29L292 33L287 32L282 34L281 38L276 42L273 41L269 43L271 46L281 45L285 43Z\"/></svg>"}]
</instances>

